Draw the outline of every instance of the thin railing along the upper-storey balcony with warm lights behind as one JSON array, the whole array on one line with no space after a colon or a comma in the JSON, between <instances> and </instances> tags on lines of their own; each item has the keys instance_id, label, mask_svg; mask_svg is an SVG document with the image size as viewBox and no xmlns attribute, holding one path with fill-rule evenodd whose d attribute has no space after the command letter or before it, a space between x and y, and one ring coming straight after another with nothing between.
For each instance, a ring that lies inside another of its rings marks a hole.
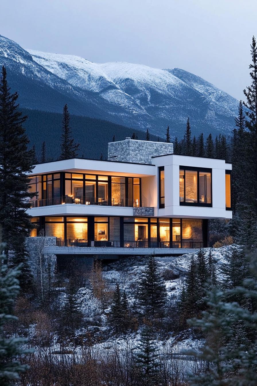
<instances>
[{"instance_id":1,"label":"thin railing along the upper-storey balcony with warm lights behind","mask_svg":"<svg viewBox=\"0 0 257 386\"><path fill-rule=\"evenodd\" d=\"M80 204L80 205L108 205L112 207L143 207L143 203L139 203L131 198L117 200L115 198L104 197L89 197L89 196L63 196L54 198L45 198L42 200L31 200L32 208L48 207L50 205L64 204Z\"/></svg>"}]
</instances>

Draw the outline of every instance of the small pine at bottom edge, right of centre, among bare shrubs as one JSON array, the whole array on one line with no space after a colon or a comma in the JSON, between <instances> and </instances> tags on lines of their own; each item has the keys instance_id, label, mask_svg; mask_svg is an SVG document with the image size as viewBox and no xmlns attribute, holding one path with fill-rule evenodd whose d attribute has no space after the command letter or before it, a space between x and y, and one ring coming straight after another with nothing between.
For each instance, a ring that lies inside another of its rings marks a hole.
<instances>
[{"instance_id":1,"label":"small pine at bottom edge, right of centre, among bare shrubs","mask_svg":"<svg viewBox=\"0 0 257 386\"><path fill-rule=\"evenodd\" d=\"M144 326L141 330L140 341L135 352L135 364L140 370L143 381L148 385L156 385L161 364L157 345L149 326Z\"/></svg>"}]
</instances>

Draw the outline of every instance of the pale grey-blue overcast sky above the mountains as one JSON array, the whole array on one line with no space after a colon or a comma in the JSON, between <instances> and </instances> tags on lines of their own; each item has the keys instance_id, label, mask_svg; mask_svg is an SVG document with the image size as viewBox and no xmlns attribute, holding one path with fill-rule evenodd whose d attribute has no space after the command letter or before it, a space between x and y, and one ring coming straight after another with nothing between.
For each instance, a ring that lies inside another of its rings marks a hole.
<instances>
[{"instance_id":1,"label":"pale grey-blue overcast sky above the mountains","mask_svg":"<svg viewBox=\"0 0 257 386\"><path fill-rule=\"evenodd\" d=\"M233 97L249 85L256 0L0 0L0 34L93 62L180 67Z\"/></svg>"}]
</instances>

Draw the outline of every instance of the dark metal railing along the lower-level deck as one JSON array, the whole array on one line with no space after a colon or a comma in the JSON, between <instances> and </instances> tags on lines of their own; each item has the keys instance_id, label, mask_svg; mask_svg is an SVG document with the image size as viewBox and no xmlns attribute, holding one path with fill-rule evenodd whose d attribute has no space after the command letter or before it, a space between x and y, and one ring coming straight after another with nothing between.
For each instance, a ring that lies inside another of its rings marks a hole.
<instances>
[{"instance_id":1,"label":"dark metal railing along the lower-level deck","mask_svg":"<svg viewBox=\"0 0 257 386\"><path fill-rule=\"evenodd\" d=\"M147 240L61 240L56 239L56 245L58 247L95 247L95 248L190 248L199 249L203 248L202 241L182 241L182 242L169 242L169 241L151 241Z\"/></svg>"}]
</instances>

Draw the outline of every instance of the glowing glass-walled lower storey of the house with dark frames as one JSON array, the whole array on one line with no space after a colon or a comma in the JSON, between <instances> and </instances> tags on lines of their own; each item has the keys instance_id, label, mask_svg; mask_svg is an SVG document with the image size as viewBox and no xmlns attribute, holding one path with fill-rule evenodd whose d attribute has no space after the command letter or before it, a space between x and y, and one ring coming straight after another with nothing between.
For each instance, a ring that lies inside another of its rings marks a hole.
<instances>
[{"instance_id":1,"label":"glowing glass-walled lower storey of the house with dark frames","mask_svg":"<svg viewBox=\"0 0 257 386\"><path fill-rule=\"evenodd\" d=\"M55 237L56 246L111 249L196 249L208 246L208 220L197 218L42 216L31 236Z\"/></svg>"}]
</instances>

